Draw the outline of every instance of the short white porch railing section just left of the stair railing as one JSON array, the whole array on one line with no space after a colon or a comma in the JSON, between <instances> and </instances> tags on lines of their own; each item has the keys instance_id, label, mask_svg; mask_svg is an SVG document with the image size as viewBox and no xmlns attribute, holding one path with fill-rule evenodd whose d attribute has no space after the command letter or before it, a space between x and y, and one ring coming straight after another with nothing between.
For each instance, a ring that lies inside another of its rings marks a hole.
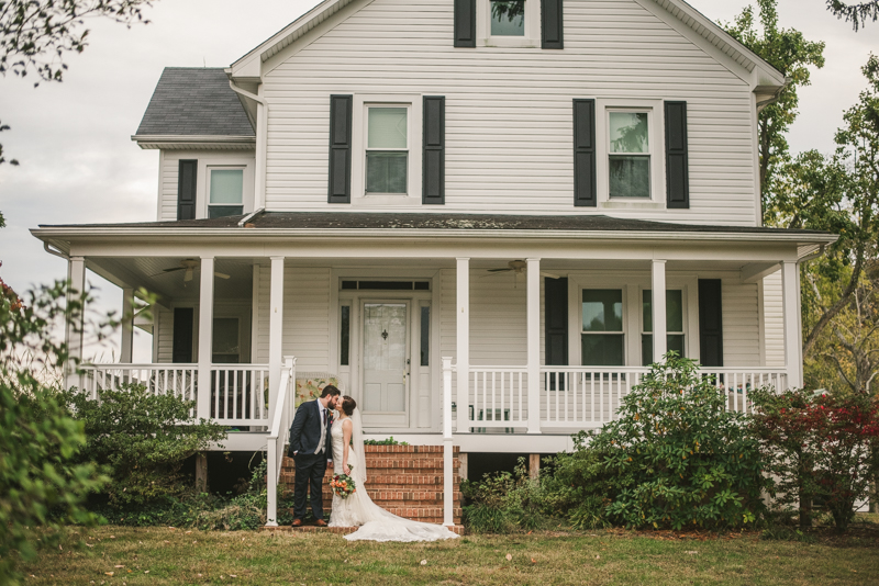
<instances>
[{"instance_id":1,"label":"short white porch railing section just left of the stair railing","mask_svg":"<svg viewBox=\"0 0 879 586\"><path fill-rule=\"evenodd\" d=\"M226 426L268 426L268 364L212 364L211 419Z\"/></svg>"}]
</instances>

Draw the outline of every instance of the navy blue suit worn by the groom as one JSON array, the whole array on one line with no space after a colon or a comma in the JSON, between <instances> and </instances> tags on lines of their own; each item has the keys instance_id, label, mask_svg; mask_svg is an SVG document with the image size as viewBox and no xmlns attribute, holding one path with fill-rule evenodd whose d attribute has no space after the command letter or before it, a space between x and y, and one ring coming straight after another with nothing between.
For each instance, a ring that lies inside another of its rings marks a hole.
<instances>
[{"instance_id":1,"label":"navy blue suit worn by the groom","mask_svg":"<svg viewBox=\"0 0 879 586\"><path fill-rule=\"evenodd\" d=\"M329 409L327 409L329 412ZM296 462L296 484L293 487L293 518L305 517L305 494L311 485L311 512L315 519L323 519L323 475L327 460L333 460L330 421L326 421L323 451L314 453L321 443L321 407L318 399L299 406L290 426L290 448L288 455ZM296 452L296 453L294 453Z\"/></svg>"}]
</instances>

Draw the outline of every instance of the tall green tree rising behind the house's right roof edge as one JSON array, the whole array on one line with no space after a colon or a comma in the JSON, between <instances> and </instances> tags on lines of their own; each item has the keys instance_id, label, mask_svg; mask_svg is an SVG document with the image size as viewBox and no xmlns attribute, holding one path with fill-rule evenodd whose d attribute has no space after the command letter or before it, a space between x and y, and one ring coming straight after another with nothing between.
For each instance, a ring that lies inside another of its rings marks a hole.
<instances>
[{"instance_id":1,"label":"tall green tree rising behind the house's right roof edge","mask_svg":"<svg viewBox=\"0 0 879 586\"><path fill-rule=\"evenodd\" d=\"M810 84L809 66L824 67L824 43L806 41L794 29L779 29L777 0L757 0L763 31L757 29L753 7L746 7L732 24L724 27L733 37L759 55L788 79L775 103L759 114L760 195L764 210L775 189L779 168L789 159L785 136L797 120L797 89ZM771 215L765 217L770 223Z\"/></svg>"}]
</instances>

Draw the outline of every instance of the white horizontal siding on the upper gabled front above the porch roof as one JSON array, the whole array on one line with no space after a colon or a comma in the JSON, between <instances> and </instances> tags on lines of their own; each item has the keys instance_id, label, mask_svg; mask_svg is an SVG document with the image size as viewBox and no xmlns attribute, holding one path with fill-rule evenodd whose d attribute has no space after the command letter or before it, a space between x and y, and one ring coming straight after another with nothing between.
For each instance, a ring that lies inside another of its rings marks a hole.
<instances>
[{"instance_id":1,"label":"white horizontal siding on the upper gabled front above the porch roof","mask_svg":"<svg viewBox=\"0 0 879 586\"><path fill-rule=\"evenodd\" d=\"M565 50L455 49L452 5L375 0L268 74L270 209L326 207L331 93L446 97L444 212L572 212L571 100L666 99L687 101L691 207L613 214L756 222L752 94L653 13L571 0Z\"/></svg>"}]
</instances>

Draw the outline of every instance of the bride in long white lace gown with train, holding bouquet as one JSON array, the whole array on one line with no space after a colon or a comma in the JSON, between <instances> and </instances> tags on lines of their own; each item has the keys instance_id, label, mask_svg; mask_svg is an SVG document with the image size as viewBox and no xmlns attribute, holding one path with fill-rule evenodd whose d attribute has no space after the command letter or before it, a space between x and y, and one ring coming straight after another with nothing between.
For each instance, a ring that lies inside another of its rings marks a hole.
<instances>
[{"instance_id":1,"label":"bride in long white lace gown with train, holding bouquet","mask_svg":"<svg viewBox=\"0 0 879 586\"><path fill-rule=\"evenodd\" d=\"M333 462L336 474L348 474L357 483L357 491L347 498L333 494L330 527L359 527L354 533L345 536L348 541L436 541L457 538L446 527L403 519L372 503L365 486L360 412L354 399L347 396L336 403L336 410L338 417L330 429Z\"/></svg>"}]
</instances>

